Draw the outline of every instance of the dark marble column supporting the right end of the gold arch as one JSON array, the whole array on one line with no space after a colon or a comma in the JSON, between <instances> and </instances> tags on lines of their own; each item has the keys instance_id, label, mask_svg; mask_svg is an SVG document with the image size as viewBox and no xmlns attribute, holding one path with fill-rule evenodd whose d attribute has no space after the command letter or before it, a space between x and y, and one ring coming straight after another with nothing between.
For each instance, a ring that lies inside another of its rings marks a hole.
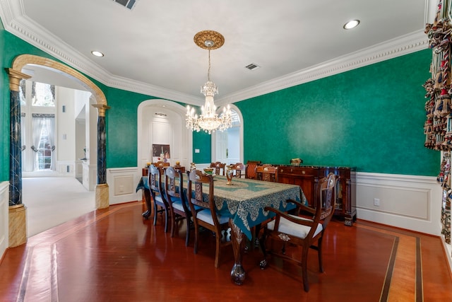
<instances>
[{"instance_id":1,"label":"dark marble column supporting the right end of the gold arch","mask_svg":"<svg viewBox=\"0 0 452 302\"><path fill-rule=\"evenodd\" d=\"M107 184L107 141L105 134L105 110L109 106L94 104L97 108L97 185L95 189L96 209L109 207Z\"/></svg>"}]
</instances>

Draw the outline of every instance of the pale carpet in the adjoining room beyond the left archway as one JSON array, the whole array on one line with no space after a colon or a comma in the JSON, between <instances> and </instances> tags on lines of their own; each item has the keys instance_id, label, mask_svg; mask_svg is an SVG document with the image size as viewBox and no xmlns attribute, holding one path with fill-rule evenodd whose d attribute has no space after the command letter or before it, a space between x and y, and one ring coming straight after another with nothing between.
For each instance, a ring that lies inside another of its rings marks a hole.
<instances>
[{"instance_id":1,"label":"pale carpet in the adjoining room beyond the left archway","mask_svg":"<svg viewBox=\"0 0 452 302\"><path fill-rule=\"evenodd\" d=\"M95 192L76 178L23 178L22 190L28 237L95 210Z\"/></svg>"}]
</instances>

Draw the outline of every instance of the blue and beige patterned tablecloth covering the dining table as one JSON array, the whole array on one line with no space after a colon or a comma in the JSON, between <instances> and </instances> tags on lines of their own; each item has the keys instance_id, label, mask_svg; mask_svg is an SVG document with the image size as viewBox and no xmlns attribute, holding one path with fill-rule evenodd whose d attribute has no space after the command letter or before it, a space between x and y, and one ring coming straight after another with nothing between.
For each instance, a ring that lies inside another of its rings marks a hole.
<instances>
[{"instance_id":1,"label":"blue and beige patterned tablecloth covering the dining table","mask_svg":"<svg viewBox=\"0 0 452 302\"><path fill-rule=\"evenodd\" d=\"M136 190L147 188L148 178L143 176ZM206 192L204 194L207 196ZM293 209L294 204L287 203L287 199L307 204L306 197L298 185L245 178L233 178L232 185L227 185L226 178L220 175L214 178L213 194L218 213L230 217L249 239L252 238L253 226L273 216L273 212L263 210L265 207L281 211Z\"/></svg>"}]
</instances>

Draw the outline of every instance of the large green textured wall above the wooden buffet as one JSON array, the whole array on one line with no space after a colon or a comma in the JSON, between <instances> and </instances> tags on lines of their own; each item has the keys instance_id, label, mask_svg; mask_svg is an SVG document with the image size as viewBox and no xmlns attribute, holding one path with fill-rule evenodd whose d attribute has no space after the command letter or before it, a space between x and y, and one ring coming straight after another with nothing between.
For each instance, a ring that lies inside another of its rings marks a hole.
<instances>
[{"instance_id":1,"label":"large green textured wall above the wooden buffet","mask_svg":"<svg viewBox=\"0 0 452 302\"><path fill-rule=\"evenodd\" d=\"M244 160L343 165L358 171L436 175L424 148L431 50L422 50L236 103Z\"/></svg>"}]
</instances>

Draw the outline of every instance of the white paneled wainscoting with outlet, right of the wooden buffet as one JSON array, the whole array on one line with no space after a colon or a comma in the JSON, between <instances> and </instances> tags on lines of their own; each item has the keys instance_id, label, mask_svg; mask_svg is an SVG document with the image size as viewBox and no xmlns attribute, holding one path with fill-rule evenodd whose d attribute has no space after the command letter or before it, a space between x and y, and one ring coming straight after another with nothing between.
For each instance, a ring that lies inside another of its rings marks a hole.
<instances>
[{"instance_id":1,"label":"white paneled wainscoting with outlet, right of the wooden buffet","mask_svg":"<svg viewBox=\"0 0 452 302\"><path fill-rule=\"evenodd\" d=\"M441 235L441 186L434 177L356 173L356 200L359 219Z\"/></svg>"}]
</instances>

